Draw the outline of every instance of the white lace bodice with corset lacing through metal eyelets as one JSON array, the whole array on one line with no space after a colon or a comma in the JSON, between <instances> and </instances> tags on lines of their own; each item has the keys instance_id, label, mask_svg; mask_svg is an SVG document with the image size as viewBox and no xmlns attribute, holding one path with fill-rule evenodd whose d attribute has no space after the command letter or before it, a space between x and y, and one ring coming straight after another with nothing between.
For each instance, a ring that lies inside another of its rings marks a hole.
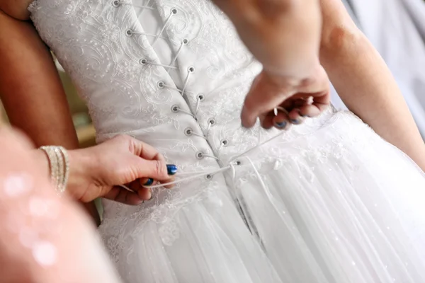
<instances>
[{"instance_id":1,"label":"white lace bodice with corset lacing through metal eyelets","mask_svg":"<svg viewBox=\"0 0 425 283\"><path fill-rule=\"evenodd\" d=\"M98 141L130 134L181 171L226 166L278 131L241 127L244 96L261 65L226 16L208 0L37 0L31 18L89 106ZM280 139L317 129L331 116ZM268 146L268 158L273 151ZM205 180L206 179L206 180ZM217 184L222 184L218 186ZM106 204L106 219L164 221L172 208L208 196L211 175L155 190L140 207Z\"/></svg>"}]
</instances>

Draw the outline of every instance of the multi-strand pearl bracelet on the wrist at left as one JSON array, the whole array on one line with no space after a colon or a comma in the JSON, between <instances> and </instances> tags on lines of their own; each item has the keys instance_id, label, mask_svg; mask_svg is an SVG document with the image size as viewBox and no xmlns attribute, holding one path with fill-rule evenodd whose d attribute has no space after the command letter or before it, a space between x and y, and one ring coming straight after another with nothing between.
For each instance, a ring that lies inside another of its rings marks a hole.
<instances>
[{"instance_id":1,"label":"multi-strand pearl bracelet on the wrist at left","mask_svg":"<svg viewBox=\"0 0 425 283\"><path fill-rule=\"evenodd\" d=\"M62 195L68 183L69 158L67 150L62 146L41 146L49 160L50 178L56 187L58 195Z\"/></svg>"}]
</instances>

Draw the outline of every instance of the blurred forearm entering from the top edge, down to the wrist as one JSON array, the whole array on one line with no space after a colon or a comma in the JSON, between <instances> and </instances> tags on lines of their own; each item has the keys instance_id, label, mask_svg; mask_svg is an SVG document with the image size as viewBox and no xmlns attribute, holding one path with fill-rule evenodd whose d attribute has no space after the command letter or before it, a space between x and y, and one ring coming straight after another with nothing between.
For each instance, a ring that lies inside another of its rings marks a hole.
<instances>
[{"instance_id":1,"label":"blurred forearm entering from the top edge, down to the wrist","mask_svg":"<svg viewBox=\"0 0 425 283\"><path fill-rule=\"evenodd\" d=\"M322 16L318 0L215 0L245 45L279 76L305 79L318 64Z\"/></svg>"}]
</instances>

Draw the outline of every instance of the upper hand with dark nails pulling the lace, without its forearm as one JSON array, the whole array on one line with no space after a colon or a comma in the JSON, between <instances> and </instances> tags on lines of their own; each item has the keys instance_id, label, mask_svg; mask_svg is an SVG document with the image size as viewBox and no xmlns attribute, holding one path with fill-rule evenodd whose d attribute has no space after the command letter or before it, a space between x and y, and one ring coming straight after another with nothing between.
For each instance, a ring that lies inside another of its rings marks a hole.
<instances>
[{"instance_id":1,"label":"upper hand with dark nails pulling the lace, without its forearm","mask_svg":"<svg viewBox=\"0 0 425 283\"><path fill-rule=\"evenodd\" d=\"M268 129L288 129L304 117L319 115L330 104L329 79L317 65L309 79L294 81L263 71L254 81L242 109L242 125L254 126L257 117ZM273 111L279 108L277 112Z\"/></svg>"}]
</instances>

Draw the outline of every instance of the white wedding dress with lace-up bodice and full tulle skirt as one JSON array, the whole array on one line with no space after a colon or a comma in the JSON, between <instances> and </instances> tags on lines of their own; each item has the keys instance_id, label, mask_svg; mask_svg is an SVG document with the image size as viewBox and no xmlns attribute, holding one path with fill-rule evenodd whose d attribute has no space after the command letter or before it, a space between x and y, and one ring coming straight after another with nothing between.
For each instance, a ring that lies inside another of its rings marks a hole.
<instances>
[{"instance_id":1,"label":"white wedding dress with lace-up bodice and full tulle skirt","mask_svg":"<svg viewBox=\"0 0 425 283\"><path fill-rule=\"evenodd\" d=\"M183 173L140 206L104 202L99 230L124 282L425 282L424 173L350 112L242 128L261 66L210 1L30 12L98 141L130 134Z\"/></svg>"}]
</instances>

